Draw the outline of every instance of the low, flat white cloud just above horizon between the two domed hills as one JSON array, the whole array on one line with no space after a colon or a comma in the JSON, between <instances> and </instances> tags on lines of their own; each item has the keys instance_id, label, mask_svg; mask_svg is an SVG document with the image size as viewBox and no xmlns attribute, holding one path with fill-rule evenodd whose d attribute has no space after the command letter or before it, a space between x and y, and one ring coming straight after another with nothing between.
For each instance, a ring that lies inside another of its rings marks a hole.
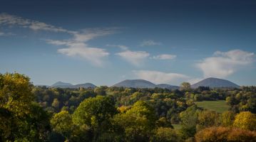
<instances>
[{"instance_id":1,"label":"low, flat white cloud just above horizon between the two domed hills","mask_svg":"<svg viewBox=\"0 0 256 142\"><path fill-rule=\"evenodd\" d=\"M154 70L133 70L135 77L139 79L148 80L156 84L180 84L184 80L188 80L187 75L173 73L173 72L159 72Z\"/></svg>"}]
</instances>

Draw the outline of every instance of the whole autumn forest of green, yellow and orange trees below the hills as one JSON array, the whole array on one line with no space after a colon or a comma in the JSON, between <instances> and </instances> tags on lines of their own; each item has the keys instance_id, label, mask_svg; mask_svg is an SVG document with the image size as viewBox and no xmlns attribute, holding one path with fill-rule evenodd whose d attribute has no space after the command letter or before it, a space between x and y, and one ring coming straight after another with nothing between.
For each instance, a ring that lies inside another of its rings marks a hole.
<instances>
[{"instance_id":1,"label":"whole autumn forest of green, yellow and orange trees below the hills","mask_svg":"<svg viewBox=\"0 0 256 142\"><path fill-rule=\"evenodd\" d=\"M227 110L197 105L220 100ZM63 89L5 73L0 112L0 141L256 141L253 86Z\"/></svg>"}]
</instances>

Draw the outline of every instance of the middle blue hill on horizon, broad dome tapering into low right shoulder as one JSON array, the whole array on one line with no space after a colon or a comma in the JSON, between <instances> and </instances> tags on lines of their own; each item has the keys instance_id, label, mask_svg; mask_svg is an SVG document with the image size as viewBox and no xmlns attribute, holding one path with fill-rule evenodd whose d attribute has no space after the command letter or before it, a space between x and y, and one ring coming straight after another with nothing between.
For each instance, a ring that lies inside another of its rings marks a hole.
<instances>
[{"instance_id":1,"label":"middle blue hill on horizon, broad dome tapering into low right shoulder","mask_svg":"<svg viewBox=\"0 0 256 142\"><path fill-rule=\"evenodd\" d=\"M153 84L147 80L123 80L114 84L113 87L130 87L130 88L167 88L167 89L179 89L178 86L173 86L170 84Z\"/></svg>"}]
</instances>

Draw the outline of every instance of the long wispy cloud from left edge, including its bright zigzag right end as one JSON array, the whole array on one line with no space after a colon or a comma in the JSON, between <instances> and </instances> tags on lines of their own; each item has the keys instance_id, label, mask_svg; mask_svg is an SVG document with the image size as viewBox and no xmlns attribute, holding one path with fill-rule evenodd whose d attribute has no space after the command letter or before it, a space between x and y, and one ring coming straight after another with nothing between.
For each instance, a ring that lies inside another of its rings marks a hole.
<instances>
[{"instance_id":1,"label":"long wispy cloud from left edge, including its bright zigzag right end","mask_svg":"<svg viewBox=\"0 0 256 142\"><path fill-rule=\"evenodd\" d=\"M30 28L34 31L51 31L68 33L72 36L66 40L47 39L46 43L52 45L64 45L66 48L58 49L58 53L71 57L80 57L88 60L93 65L103 66L103 62L109 53L102 48L91 47L87 44L88 40L93 40L100 36L113 34L117 28L87 28L81 31L70 31L64 28L52 26L41 21L34 21L19 16L10 15L8 13L0 13L0 26L20 26L22 28ZM4 33L0 33L4 35Z\"/></svg>"}]
</instances>

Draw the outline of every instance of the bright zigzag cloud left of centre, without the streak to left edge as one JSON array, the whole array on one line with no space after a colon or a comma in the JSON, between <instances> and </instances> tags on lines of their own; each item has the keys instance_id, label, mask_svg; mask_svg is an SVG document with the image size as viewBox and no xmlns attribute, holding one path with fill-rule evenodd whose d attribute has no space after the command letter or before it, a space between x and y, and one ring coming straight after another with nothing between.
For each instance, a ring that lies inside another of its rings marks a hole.
<instances>
[{"instance_id":1,"label":"bright zigzag cloud left of centre, without the streak to left edge","mask_svg":"<svg viewBox=\"0 0 256 142\"><path fill-rule=\"evenodd\" d=\"M68 40L46 40L46 42L53 45L67 46L67 48L58 49L58 53L71 57L80 57L90 61L93 65L103 66L103 62L109 53L102 48L90 47L86 42L111 33L113 33L111 28L90 28L73 34L73 38Z\"/></svg>"}]
</instances>

